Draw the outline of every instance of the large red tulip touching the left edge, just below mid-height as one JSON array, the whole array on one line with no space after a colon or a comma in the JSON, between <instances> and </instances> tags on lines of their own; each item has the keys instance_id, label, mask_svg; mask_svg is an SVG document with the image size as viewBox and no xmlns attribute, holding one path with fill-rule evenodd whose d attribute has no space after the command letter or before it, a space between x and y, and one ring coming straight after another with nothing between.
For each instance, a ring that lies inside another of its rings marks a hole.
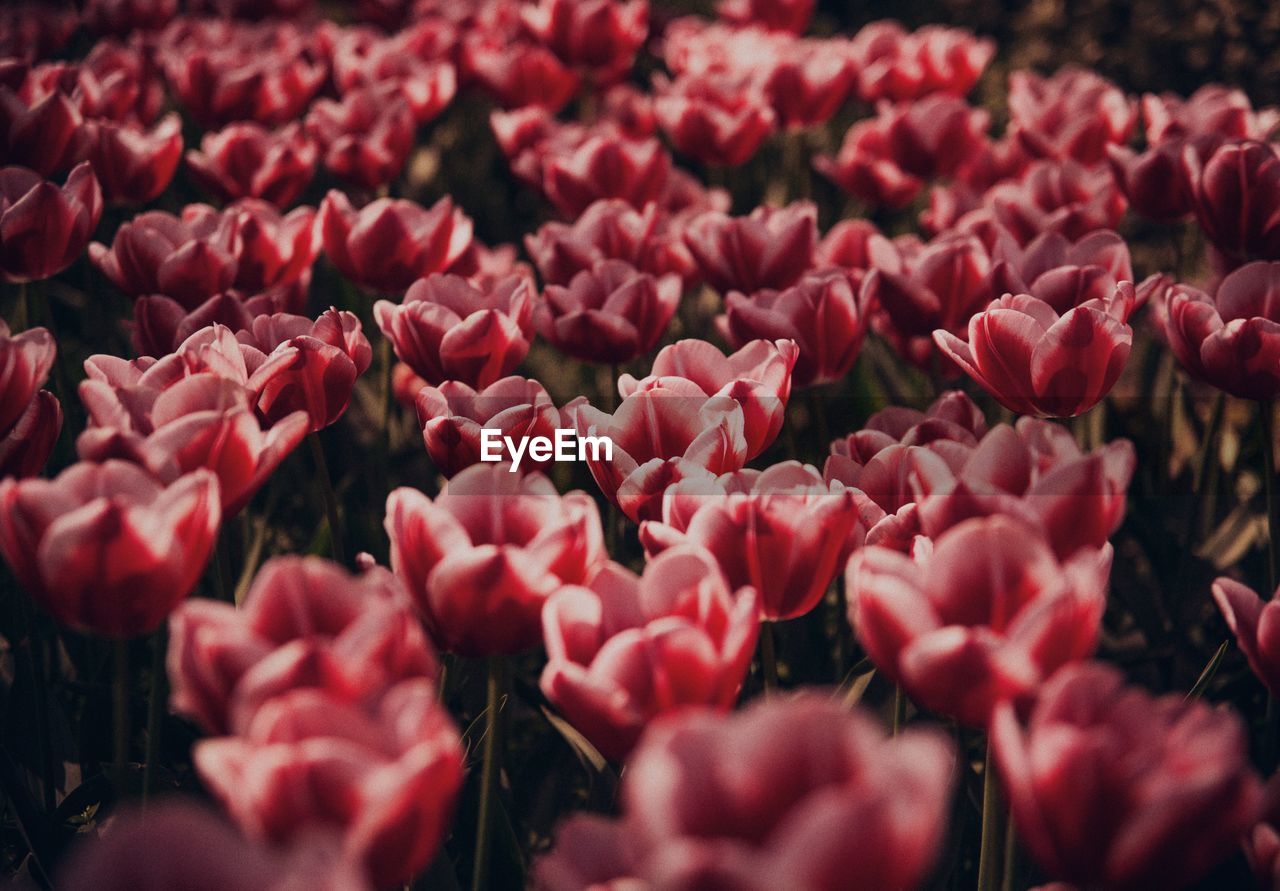
<instances>
[{"instance_id":1,"label":"large red tulip touching the left edge, just below mid-height","mask_svg":"<svg viewBox=\"0 0 1280 891\"><path fill-rule=\"evenodd\" d=\"M113 638L154 631L204 572L218 535L218 479L165 486L123 461L54 480L0 481L0 553L63 625Z\"/></svg>"}]
</instances>

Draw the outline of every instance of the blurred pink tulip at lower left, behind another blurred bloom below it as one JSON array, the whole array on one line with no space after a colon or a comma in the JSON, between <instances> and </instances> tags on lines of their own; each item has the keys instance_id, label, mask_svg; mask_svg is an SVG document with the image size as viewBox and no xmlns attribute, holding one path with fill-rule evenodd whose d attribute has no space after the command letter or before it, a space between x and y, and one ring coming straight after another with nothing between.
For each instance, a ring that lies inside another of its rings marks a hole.
<instances>
[{"instance_id":1,"label":"blurred pink tulip at lower left, behind another blurred bloom below it","mask_svg":"<svg viewBox=\"0 0 1280 891\"><path fill-rule=\"evenodd\" d=\"M174 712L212 735L244 734L279 695L316 689L376 703L439 666L404 589L385 568L353 576L317 557L262 565L239 607L193 599L169 618Z\"/></svg>"}]
</instances>

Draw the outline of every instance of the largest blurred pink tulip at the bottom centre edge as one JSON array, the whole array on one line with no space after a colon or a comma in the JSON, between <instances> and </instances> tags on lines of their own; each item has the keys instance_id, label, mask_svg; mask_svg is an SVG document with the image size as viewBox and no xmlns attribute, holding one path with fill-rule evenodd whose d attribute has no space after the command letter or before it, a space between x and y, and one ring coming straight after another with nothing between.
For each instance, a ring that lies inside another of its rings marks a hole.
<instances>
[{"instance_id":1,"label":"largest blurred pink tulip at the bottom centre edge","mask_svg":"<svg viewBox=\"0 0 1280 891\"><path fill-rule=\"evenodd\" d=\"M827 698L676 716L641 737L622 817L567 821L536 883L915 888L941 853L954 775L941 734L886 739L869 716Z\"/></svg>"}]
</instances>

